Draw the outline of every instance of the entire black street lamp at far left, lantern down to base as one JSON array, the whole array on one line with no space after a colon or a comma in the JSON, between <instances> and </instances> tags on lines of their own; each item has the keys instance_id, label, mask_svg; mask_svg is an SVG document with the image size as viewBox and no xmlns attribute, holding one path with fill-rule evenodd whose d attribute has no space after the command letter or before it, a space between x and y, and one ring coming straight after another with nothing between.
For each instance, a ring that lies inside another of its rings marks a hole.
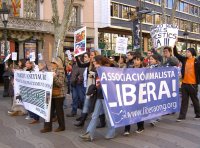
<instances>
[{"instance_id":1,"label":"entire black street lamp at far left, lantern down to base","mask_svg":"<svg viewBox=\"0 0 200 148\"><path fill-rule=\"evenodd\" d=\"M3 31L3 35L4 35L4 56L6 58L7 54L8 54L8 46L7 46L7 23L8 23L8 15L9 15L9 9L6 6L6 2L3 2L2 4L2 9L0 9L0 15L1 15L1 20L3 22L4 25L4 31ZM3 97L8 97L9 96L9 76L10 73L7 71L7 69L5 68L5 72L3 74L3 78L4 78L4 91L3 91Z\"/></svg>"}]
</instances>

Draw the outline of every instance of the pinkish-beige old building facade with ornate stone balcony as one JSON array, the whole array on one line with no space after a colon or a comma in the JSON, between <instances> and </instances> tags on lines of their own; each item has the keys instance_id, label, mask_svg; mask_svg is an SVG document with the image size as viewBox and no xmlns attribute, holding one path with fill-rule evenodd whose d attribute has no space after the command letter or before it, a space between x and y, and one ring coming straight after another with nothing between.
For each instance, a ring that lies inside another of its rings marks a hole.
<instances>
[{"instance_id":1,"label":"pinkish-beige old building facade with ornate stone balcony","mask_svg":"<svg viewBox=\"0 0 200 148\"><path fill-rule=\"evenodd\" d=\"M54 26L52 23L51 0L0 0L6 1L10 10L7 24L8 53L17 52L18 59L28 58L30 52L35 52L36 62L38 54L49 63L54 49ZM64 11L64 0L57 0L60 22ZM70 27L66 31L64 50L73 50L74 31L87 27L87 48L94 47L94 3L90 0L75 0L70 20ZM4 25L0 21L0 69L3 69L5 58Z\"/></svg>"}]
</instances>

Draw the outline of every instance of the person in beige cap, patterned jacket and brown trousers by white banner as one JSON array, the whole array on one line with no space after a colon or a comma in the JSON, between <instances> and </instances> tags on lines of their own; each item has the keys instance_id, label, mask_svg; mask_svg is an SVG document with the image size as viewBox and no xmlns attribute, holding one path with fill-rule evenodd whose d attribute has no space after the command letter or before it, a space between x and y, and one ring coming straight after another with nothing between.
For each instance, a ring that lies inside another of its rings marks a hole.
<instances>
[{"instance_id":1,"label":"person in beige cap, patterned jacket and brown trousers by white banner","mask_svg":"<svg viewBox=\"0 0 200 148\"><path fill-rule=\"evenodd\" d=\"M59 57L53 58L51 62L51 67L53 71L53 88L60 88L60 94L56 97L52 96L50 122L44 123L44 128L40 130L41 133L52 131L52 118L54 116L54 111L56 111L59 124L59 127L56 130L54 130L54 132L60 132L65 130L65 120L63 111L63 102L65 99L65 71L62 60Z\"/></svg>"}]
</instances>

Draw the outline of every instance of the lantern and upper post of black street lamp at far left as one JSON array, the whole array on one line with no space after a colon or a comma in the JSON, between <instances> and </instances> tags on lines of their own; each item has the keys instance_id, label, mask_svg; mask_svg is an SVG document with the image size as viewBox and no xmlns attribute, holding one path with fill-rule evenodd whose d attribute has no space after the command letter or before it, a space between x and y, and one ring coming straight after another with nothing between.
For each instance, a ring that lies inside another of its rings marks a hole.
<instances>
[{"instance_id":1,"label":"lantern and upper post of black street lamp at far left","mask_svg":"<svg viewBox=\"0 0 200 148\"><path fill-rule=\"evenodd\" d=\"M6 2L3 2L2 4L2 9L0 9L0 15L1 15L1 20L4 25L4 55L5 57L7 56L7 24L8 24L8 15L10 13L10 10L6 6Z\"/></svg>"}]
</instances>

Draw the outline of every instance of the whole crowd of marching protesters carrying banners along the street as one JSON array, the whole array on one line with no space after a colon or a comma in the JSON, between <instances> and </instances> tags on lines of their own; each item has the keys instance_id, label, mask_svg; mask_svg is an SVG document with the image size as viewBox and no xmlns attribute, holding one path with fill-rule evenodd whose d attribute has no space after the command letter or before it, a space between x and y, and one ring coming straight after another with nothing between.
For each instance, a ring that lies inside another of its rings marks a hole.
<instances>
[{"instance_id":1,"label":"whole crowd of marching protesters carrying banners along the street","mask_svg":"<svg viewBox=\"0 0 200 148\"><path fill-rule=\"evenodd\" d=\"M85 141L92 141L95 137L96 128L103 128L107 125L106 139L115 137L115 128L111 126L108 111L104 102L100 79L97 74L97 69L101 66L119 67L119 68L155 68L155 67L169 67L176 66L180 69L180 77L182 77L181 85L181 109L177 122L186 119L189 98L191 98L194 106L194 119L200 119L200 105L197 97L198 84L200 82L200 58L194 48L188 48L186 54L182 55L177 51L175 46L164 47L163 53L158 53L155 49L147 51L144 57L139 52L129 51L126 56L120 57L104 57L99 55L97 51L86 52L83 55L76 56L73 60L67 60L65 64L59 57L53 58L51 61L50 71L53 71L53 86L60 87L62 93L59 96L52 96L51 117L50 122L44 123L44 128L41 133L52 131L52 122L58 121L58 128L55 132L65 130L65 119L63 105L65 97L71 94L72 104L71 112L66 114L66 118L77 117L78 109L81 114L76 118L76 127L84 127L85 121L92 114L86 132L80 135L80 138ZM10 71L13 65L9 66ZM19 60L18 70L33 71L34 63L29 60ZM48 71L46 63L41 61L38 64L38 71ZM13 97L13 78L10 79L10 96ZM67 90L65 91L65 84ZM68 95L66 95L67 93ZM23 106L16 105L13 99L11 110L8 111L11 116L28 114L26 119L31 119L30 124L39 123L39 116L26 111ZM74 118L71 118L74 119ZM155 126L162 119L157 117L149 121L152 126ZM124 135L130 134L131 125L126 125L124 128ZM144 131L144 121L137 123L136 133Z\"/></svg>"}]
</instances>

